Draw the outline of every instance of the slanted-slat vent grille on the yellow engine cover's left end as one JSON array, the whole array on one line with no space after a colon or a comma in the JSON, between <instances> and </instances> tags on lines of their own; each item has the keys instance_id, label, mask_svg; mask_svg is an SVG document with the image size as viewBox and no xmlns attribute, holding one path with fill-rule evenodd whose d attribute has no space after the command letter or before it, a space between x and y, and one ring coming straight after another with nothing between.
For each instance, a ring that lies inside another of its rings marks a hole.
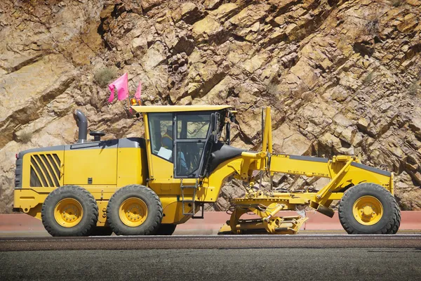
<instances>
[{"instance_id":1,"label":"slanted-slat vent grille on the yellow engine cover's left end","mask_svg":"<svg viewBox=\"0 0 421 281\"><path fill-rule=\"evenodd\" d=\"M58 188L60 186L60 158L56 154L31 156L30 186Z\"/></svg>"}]
</instances>

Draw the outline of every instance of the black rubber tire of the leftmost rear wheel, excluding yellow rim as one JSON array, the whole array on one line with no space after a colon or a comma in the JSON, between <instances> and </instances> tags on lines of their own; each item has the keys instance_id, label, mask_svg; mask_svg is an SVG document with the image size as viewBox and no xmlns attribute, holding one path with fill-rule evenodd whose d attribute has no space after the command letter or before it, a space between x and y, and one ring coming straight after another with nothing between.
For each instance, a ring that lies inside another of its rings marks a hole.
<instances>
[{"instance_id":1,"label":"black rubber tire of the leftmost rear wheel, excluding yellow rim","mask_svg":"<svg viewBox=\"0 0 421 281\"><path fill-rule=\"evenodd\" d=\"M65 228L54 218L55 206L65 198L77 200L83 209L81 221L72 228ZM88 190L76 185L64 185L53 190L42 204L41 218L44 228L52 236L88 236L98 221L98 204Z\"/></svg>"}]
</instances>

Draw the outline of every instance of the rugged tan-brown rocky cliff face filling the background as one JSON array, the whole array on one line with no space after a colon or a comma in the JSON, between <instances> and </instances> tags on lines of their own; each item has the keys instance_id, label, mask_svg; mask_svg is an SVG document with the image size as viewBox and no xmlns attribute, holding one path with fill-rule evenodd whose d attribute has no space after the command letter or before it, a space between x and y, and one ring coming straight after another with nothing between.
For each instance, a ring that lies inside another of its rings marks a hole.
<instances>
[{"instance_id":1,"label":"rugged tan-brown rocky cliff face filling the background","mask_svg":"<svg viewBox=\"0 0 421 281\"><path fill-rule=\"evenodd\" d=\"M357 155L396 173L402 209L421 209L420 0L4 0L0 38L0 211L15 152L74 143L75 108L107 138L142 135L107 103L123 72L146 105L233 105L243 148L258 149L270 105L276 152ZM229 182L210 209L241 190Z\"/></svg>"}]
</instances>

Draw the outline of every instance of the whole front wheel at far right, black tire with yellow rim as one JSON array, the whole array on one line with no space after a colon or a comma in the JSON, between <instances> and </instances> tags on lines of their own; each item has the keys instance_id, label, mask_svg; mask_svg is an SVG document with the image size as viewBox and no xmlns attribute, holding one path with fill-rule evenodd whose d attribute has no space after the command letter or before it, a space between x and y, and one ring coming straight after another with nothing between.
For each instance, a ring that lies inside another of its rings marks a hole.
<instances>
[{"instance_id":1,"label":"whole front wheel at far right, black tire with yellow rim","mask_svg":"<svg viewBox=\"0 0 421 281\"><path fill-rule=\"evenodd\" d=\"M339 220L349 234L395 234L401 211L388 190L375 183L360 183L340 200Z\"/></svg>"}]
</instances>

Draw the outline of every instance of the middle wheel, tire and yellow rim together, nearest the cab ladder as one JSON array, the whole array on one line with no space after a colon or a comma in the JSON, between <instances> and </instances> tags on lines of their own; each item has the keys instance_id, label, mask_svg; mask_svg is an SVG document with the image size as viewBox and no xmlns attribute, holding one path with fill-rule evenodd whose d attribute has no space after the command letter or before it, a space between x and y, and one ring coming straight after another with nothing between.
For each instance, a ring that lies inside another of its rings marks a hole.
<instances>
[{"instance_id":1,"label":"middle wheel, tire and yellow rim together, nearest the cab ladder","mask_svg":"<svg viewBox=\"0 0 421 281\"><path fill-rule=\"evenodd\" d=\"M154 235L161 220L161 200L146 186L127 185L108 202L107 221L116 235Z\"/></svg>"}]
</instances>

